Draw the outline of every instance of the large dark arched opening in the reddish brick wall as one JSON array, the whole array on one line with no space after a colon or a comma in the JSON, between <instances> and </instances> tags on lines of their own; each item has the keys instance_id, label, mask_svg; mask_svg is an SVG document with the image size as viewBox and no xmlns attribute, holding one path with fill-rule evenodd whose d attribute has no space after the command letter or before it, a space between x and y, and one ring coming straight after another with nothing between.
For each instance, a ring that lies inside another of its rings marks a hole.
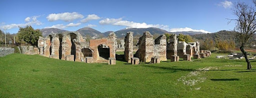
<instances>
[{"instance_id":1,"label":"large dark arched opening in the reddish brick wall","mask_svg":"<svg viewBox=\"0 0 256 98\"><path fill-rule=\"evenodd\" d=\"M105 44L100 44L97 47L98 50L98 59L99 60L108 60L110 57L109 47Z\"/></svg>"}]
</instances>

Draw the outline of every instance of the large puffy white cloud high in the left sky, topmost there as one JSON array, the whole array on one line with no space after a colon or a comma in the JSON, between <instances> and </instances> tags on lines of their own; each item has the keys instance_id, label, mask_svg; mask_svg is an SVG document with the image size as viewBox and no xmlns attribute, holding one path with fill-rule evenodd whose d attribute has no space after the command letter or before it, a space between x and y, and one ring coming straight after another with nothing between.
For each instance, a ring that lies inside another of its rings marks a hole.
<instances>
[{"instance_id":1,"label":"large puffy white cloud high in the left sky, topmost there","mask_svg":"<svg viewBox=\"0 0 256 98\"><path fill-rule=\"evenodd\" d=\"M63 13L51 13L46 18L48 21L56 21L56 20L64 20L64 21L72 21L78 18L83 18L84 16L82 14L79 14L77 12L63 12Z\"/></svg>"}]
</instances>

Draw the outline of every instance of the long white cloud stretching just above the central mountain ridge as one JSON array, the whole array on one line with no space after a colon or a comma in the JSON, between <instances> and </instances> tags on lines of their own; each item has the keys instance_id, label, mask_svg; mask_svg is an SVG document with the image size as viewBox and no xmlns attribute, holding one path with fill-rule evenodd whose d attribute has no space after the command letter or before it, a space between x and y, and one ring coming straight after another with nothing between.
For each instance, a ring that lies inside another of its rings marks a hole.
<instances>
[{"instance_id":1,"label":"long white cloud stretching just above the central mountain ridge","mask_svg":"<svg viewBox=\"0 0 256 98\"><path fill-rule=\"evenodd\" d=\"M122 20L122 18L105 18L99 21L99 24L110 24L110 25L120 25L126 26L126 28L148 28L148 27L157 27L164 30L169 30L168 25L161 25L161 24L146 24L146 23L137 23L133 21Z\"/></svg>"}]
</instances>

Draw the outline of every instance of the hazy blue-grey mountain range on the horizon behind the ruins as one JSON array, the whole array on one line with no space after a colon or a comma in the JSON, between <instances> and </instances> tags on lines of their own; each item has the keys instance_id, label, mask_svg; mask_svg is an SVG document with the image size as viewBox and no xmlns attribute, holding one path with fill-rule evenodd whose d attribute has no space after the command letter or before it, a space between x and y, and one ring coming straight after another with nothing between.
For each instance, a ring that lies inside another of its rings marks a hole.
<instances>
[{"instance_id":1,"label":"hazy blue-grey mountain range on the horizon behind the ruins","mask_svg":"<svg viewBox=\"0 0 256 98\"><path fill-rule=\"evenodd\" d=\"M45 37L47 36L49 33L54 32L54 33L61 33L61 32L65 32L67 30L61 30L61 29L57 29L57 28L44 28L41 29L42 32L42 36ZM84 28L80 28L78 31L82 36L87 36L89 35L91 38L99 38L99 37L107 37L108 34L110 32L113 31L107 31L107 32L99 32L93 28L89 28L89 27L84 27ZM115 35L117 36L117 38L123 38L126 35L126 32L131 31L134 32L133 35L142 35L144 31L149 31L152 35L157 34L157 35L161 35L164 33L173 33L173 34L185 34L185 35L195 35L195 34L205 34L203 32L194 32L194 31L183 31L183 32L168 32L166 30L163 29L159 29L159 28L155 28L155 27L149 27L149 28L126 28L126 29L121 29L121 30L117 30L114 31Z\"/></svg>"}]
</instances>

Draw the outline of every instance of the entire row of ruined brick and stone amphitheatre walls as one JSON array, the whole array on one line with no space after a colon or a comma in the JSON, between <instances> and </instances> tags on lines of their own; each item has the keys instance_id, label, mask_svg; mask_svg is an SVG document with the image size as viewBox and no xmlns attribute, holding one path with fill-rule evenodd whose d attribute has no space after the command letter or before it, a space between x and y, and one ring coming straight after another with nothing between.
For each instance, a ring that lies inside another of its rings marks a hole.
<instances>
[{"instance_id":1,"label":"entire row of ruined brick and stone amphitheatre walls","mask_svg":"<svg viewBox=\"0 0 256 98\"><path fill-rule=\"evenodd\" d=\"M109 65L115 65L116 49L124 49L124 55L117 59L123 58L135 65L139 62L160 63L167 59L176 62L179 58L191 61L191 57L200 59L210 55L210 51L199 50L199 42L185 43L177 40L176 34L170 36L169 42L166 42L164 34L154 40L150 32L145 31L137 42L137 51L133 54L133 32L127 32L120 44L117 44L114 32L109 33L107 38L89 41L85 41L79 32L51 32L45 38L39 37L38 48L33 51L54 59Z\"/></svg>"}]
</instances>

